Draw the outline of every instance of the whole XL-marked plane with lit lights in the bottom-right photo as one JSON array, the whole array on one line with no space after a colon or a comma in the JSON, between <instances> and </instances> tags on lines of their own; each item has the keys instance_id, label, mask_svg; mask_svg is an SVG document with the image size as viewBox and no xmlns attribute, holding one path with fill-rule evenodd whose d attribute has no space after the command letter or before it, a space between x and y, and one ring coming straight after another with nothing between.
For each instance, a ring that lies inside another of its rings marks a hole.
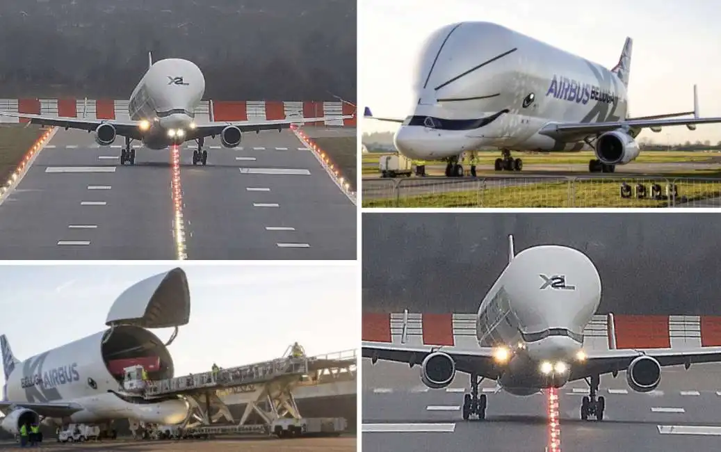
<instances>
[{"instance_id":1,"label":"whole XL-marked plane with lit lights in the bottom-right photo","mask_svg":"<svg viewBox=\"0 0 721 452\"><path fill-rule=\"evenodd\" d=\"M660 384L668 365L721 361L721 347L585 350L583 330L601 302L601 278L590 258L569 247L542 245L518 254L508 236L508 265L483 298L477 316L479 347L409 345L363 341L363 358L420 364L420 380L430 389L449 386L456 372L470 376L462 417L486 417L487 396L479 396L484 379L494 380L514 396L531 396L585 380L580 417L603 420L606 401L598 396L600 376L627 371L627 383L638 392Z\"/></svg>"}]
</instances>

